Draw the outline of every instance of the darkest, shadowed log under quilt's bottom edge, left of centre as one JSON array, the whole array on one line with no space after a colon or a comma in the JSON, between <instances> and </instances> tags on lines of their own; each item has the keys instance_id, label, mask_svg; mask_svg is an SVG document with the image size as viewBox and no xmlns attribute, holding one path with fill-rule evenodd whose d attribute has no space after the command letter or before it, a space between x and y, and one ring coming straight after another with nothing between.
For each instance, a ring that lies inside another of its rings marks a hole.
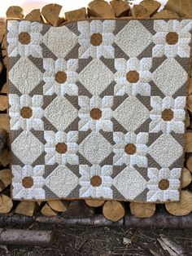
<instances>
[{"instance_id":1,"label":"darkest, shadowed log under quilt's bottom edge, left of centre","mask_svg":"<svg viewBox=\"0 0 192 256\"><path fill-rule=\"evenodd\" d=\"M94 215L94 207L85 204L85 201L71 201L68 210L63 213L66 218L89 218Z\"/></svg>"}]
</instances>

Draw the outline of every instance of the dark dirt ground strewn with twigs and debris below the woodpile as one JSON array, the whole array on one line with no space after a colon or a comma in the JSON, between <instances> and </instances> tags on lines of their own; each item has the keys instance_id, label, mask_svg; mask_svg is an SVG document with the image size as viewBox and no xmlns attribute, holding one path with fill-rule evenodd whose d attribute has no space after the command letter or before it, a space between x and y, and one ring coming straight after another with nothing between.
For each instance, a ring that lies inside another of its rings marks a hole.
<instances>
[{"instance_id":1,"label":"dark dirt ground strewn with twigs and debris below the woodpile","mask_svg":"<svg viewBox=\"0 0 192 256\"><path fill-rule=\"evenodd\" d=\"M5 256L76 256L76 255L192 255L192 230L130 229L125 227L46 226L33 224L27 229L52 230L49 247L0 246ZM164 234L171 247L163 249L158 239ZM170 250L171 249L171 250Z\"/></svg>"}]
</instances>

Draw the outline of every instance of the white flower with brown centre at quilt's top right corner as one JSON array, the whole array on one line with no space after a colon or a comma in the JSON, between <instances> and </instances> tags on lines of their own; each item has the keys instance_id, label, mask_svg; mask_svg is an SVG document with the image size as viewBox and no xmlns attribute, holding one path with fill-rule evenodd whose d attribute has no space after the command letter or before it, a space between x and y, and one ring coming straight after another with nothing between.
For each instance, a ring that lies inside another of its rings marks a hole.
<instances>
[{"instance_id":1,"label":"white flower with brown centre at quilt's top right corner","mask_svg":"<svg viewBox=\"0 0 192 256\"><path fill-rule=\"evenodd\" d=\"M154 20L154 29L157 33L153 38L155 47L153 57L166 55L173 58L179 55L181 58L190 57L191 20ZM175 42L168 42L168 36L173 33ZM167 40L166 40L167 38Z\"/></svg>"}]
</instances>

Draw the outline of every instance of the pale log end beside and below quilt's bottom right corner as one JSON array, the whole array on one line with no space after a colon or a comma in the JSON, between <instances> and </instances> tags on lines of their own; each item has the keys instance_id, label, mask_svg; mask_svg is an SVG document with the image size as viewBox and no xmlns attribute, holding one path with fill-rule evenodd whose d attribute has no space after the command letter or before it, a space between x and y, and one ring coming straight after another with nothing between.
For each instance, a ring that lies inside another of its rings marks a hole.
<instances>
[{"instance_id":1,"label":"pale log end beside and below quilt's bottom right corner","mask_svg":"<svg viewBox=\"0 0 192 256\"><path fill-rule=\"evenodd\" d=\"M179 202L165 204L169 214L175 216L185 216L192 211L192 192L181 191L181 198Z\"/></svg>"}]
</instances>

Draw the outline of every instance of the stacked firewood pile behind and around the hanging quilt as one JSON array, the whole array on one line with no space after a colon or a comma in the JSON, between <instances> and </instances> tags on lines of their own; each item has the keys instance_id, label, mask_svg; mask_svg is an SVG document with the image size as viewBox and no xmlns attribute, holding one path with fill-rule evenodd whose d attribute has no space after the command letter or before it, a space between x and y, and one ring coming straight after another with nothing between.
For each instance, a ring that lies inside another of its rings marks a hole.
<instances>
[{"instance_id":1,"label":"stacked firewood pile behind and around the hanging quilt","mask_svg":"<svg viewBox=\"0 0 192 256\"><path fill-rule=\"evenodd\" d=\"M85 20L89 17L118 18L128 16L133 18L151 19L179 19L192 18L191 0L168 0L162 11L160 3L154 0L144 0L132 7L124 0L112 0L110 3L103 0L89 2L87 8L82 7L75 11L60 15L64 7L58 4L48 4L42 9L36 9L24 16L21 7L9 7L7 18L38 21L53 26L62 26L67 21ZM118 221L124 214L133 214L139 218L151 217L159 209L175 216L184 216L192 211L192 65L190 69L190 85L188 90L186 133L185 133L185 164L181 180L181 201L165 205L142 204L120 201L12 201L11 200L11 170L9 148L9 117L7 100L7 52L6 52L6 24L0 21L0 214L23 214L33 216L56 216L64 213L74 218L85 218L94 214L102 214L111 221ZM170 148L172 150L172 148Z\"/></svg>"}]
</instances>

